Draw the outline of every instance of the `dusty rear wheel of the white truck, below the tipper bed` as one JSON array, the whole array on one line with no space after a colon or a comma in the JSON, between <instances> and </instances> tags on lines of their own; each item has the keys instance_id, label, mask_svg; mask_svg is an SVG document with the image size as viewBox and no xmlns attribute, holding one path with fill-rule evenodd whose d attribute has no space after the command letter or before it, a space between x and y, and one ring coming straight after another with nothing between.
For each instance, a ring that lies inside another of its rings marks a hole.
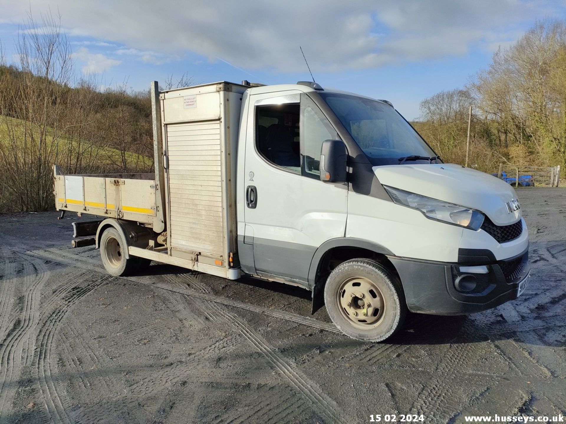
<instances>
[{"instance_id":1,"label":"dusty rear wheel of the white truck, below the tipper bed","mask_svg":"<svg viewBox=\"0 0 566 424\"><path fill-rule=\"evenodd\" d=\"M106 228L100 238L100 256L108 274L114 276L130 275L139 270L141 258L126 259L128 248L120 233L113 227Z\"/></svg>"}]
</instances>

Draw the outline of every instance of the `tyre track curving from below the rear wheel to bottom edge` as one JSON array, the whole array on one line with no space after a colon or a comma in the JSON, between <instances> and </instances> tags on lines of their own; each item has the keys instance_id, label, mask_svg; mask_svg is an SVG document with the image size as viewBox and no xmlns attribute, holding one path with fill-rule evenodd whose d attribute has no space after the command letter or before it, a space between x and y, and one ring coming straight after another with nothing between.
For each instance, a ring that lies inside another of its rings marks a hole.
<instances>
[{"instance_id":1,"label":"tyre track curving from below the rear wheel to bottom edge","mask_svg":"<svg viewBox=\"0 0 566 424\"><path fill-rule=\"evenodd\" d=\"M88 273L90 274L90 273ZM84 278L82 274L79 278ZM72 422L67 414L65 405L65 393L61 393L62 382L60 374L52 374L52 348L55 332L59 323L65 318L70 307L80 298L84 297L97 287L108 283L109 276L105 276L96 282L87 283L80 287L73 285L62 293L62 305L58 305L52 313L46 317L37 335L36 345L38 352L33 357L34 371L38 378L38 386L44 401L45 414L48 421L53 422ZM75 281L78 283L78 280Z\"/></svg>"}]
</instances>

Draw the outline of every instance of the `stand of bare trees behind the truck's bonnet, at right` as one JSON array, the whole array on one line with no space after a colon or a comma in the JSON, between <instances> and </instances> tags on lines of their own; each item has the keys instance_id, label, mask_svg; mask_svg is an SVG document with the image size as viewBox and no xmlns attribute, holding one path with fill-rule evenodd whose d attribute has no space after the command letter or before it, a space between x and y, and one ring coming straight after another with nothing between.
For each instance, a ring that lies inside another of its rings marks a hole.
<instances>
[{"instance_id":1,"label":"stand of bare trees behind the truck's bonnet, at right","mask_svg":"<svg viewBox=\"0 0 566 424\"><path fill-rule=\"evenodd\" d=\"M443 158L462 163L470 104L472 163L555 166L566 162L566 24L537 21L514 45L499 49L464 90L421 102L419 131Z\"/></svg>"}]
</instances>

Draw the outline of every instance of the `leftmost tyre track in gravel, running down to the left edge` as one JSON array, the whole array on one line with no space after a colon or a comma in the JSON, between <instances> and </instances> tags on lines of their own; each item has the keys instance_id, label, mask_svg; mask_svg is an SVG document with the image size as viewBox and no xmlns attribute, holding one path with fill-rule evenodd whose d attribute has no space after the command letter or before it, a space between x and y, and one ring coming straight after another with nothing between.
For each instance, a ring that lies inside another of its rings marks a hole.
<instances>
[{"instance_id":1,"label":"leftmost tyre track in gravel, running down to the left edge","mask_svg":"<svg viewBox=\"0 0 566 424\"><path fill-rule=\"evenodd\" d=\"M0 419L7 403L8 391L14 392L15 387L8 390L8 386L14 383L16 375L22 370L22 358L29 356L31 351L26 351L29 346L28 339L31 330L38 321L38 307L42 285L49 278L49 271L42 261L36 258L23 259L23 296L22 312L15 319L12 329L8 331L0 343ZM30 260L31 259L31 260Z\"/></svg>"}]
</instances>

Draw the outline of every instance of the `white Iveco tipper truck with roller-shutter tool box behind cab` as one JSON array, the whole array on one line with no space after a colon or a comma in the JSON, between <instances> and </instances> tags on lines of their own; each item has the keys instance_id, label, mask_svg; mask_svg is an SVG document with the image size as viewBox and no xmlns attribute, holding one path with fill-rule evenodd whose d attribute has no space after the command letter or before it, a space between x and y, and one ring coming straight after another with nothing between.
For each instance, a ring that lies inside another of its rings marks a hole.
<instances>
[{"instance_id":1,"label":"white Iveco tipper truck with roller-shutter tool box behind cab","mask_svg":"<svg viewBox=\"0 0 566 424\"><path fill-rule=\"evenodd\" d=\"M55 206L112 275L149 261L312 291L346 335L408 311L469 314L521 295L528 231L513 188L443 163L384 100L226 81L158 92L155 174L63 175Z\"/></svg>"}]
</instances>

